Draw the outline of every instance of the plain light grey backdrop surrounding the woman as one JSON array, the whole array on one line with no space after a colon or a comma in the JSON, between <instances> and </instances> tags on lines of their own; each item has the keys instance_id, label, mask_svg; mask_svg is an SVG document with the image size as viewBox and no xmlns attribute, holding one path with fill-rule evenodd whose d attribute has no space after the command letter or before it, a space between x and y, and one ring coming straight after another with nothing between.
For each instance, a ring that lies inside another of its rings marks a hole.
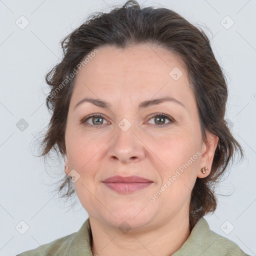
<instances>
[{"instance_id":1,"label":"plain light grey backdrop surrounding the woman","mask_svg":"<svg viewBox=\"0 0 256 256\"><path fill-rule=\"evenodd\" d=\"M218 196L216 211L205 219L213 231L255 255L256 1L138 2L173 9L212 32L204 29L227 75L226 119L245 157L232 166L218 188L219 193L231 195ZM124 1L0 0L0 255L15 255L76 232L88 216L80 202L67 211L55 200L47 183L57 178L46 170L63 174L64 168L56 162L44 167L43 160L33 156L33 141L50 117L44 104L43 92L48 91L44 75L61 58L59 41L90 12L107 11L113 3ZM15 24L21 23L21 15L29 21L24 29ZM223 19L226 15L234 21L229 29L223 26L231 24ZM21 118L28 123L23 131L16 127ZM15 229L21 220L29 226L24 234ZM231 225L234 229L228 233Z\"/></svg>"}]
</instances>

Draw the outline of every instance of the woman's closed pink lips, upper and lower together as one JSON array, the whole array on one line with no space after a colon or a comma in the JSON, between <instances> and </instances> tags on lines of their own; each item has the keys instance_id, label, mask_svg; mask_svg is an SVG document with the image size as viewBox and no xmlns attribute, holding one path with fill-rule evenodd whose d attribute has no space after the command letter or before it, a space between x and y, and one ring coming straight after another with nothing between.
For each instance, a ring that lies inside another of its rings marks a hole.
<instances>
[{"instance_id":1,"label":"woman's closed pink lips, upper and lower together","mask_svg":"<svg viewBox=\"0 0 256 256\"><path fill-rule=\"evenodd\" d=\"M132 193L141 190L153 182L140 176L112 176L102 181L108 188L118 193Z\"/></svg>"}]
</instances>

